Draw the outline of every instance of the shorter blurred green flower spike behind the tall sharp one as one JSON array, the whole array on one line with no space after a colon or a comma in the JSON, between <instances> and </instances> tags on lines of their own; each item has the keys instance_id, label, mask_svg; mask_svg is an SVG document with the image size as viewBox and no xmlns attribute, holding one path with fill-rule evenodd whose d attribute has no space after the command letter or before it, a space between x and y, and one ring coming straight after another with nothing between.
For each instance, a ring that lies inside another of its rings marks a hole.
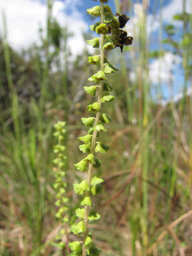
<instances>
[{"instance_id":1,"label":"shorter blurred green flower spike behind the tall sharp one","mask_svg":"<svg viewBox=\"0 0 192 256\"><path fill-rule=\"evenodd\" d=\"M66 246L65 243L62 241L62 236L66 233L65 224L69 222L69 217L67 214L67 202L69 199L65 197L67 183L65 182L66 173L64 171L66 167L67 157L65 155L66 147L62 145L66 133L65 125L66 122L57 122L54 125L55 132L53 133L54 137L57 138L57 145L54 146L53 150L56 155L55 159L53 160L53 163L55 164L55 167L53 168L55 172L55 183L53 184L53 188L56 191L55 205L59 207L57 213L55 214L55 217L59 219L59 222L62 226L59 230L59 234L56 237L57 243L52 243L52 245L54 245L55 247L59 247L60 249L63 249Z\"/></svg>"}]
</instances>

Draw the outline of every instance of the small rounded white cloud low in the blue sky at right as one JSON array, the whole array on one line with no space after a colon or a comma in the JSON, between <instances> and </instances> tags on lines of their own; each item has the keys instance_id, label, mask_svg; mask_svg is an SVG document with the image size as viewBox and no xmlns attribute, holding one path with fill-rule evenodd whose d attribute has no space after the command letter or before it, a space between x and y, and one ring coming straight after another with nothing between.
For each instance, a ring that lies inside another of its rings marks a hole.
<instances>
[{"instance_id":1,"label":"small rounded white cloud low in the blue sky at right","mask_svg":"<svg viewBox=\"0 0 192 256\"><path fill-rule=\"evenodd\" d=\"M155 59L149 65L149 79L152 83L157 84L161 82L169 82L174 79L172 73L175 69L175 65L179 64L181 59L178 56L173 55L173 53L165 53L163 57Z\"/></svg>"}]
</instances>

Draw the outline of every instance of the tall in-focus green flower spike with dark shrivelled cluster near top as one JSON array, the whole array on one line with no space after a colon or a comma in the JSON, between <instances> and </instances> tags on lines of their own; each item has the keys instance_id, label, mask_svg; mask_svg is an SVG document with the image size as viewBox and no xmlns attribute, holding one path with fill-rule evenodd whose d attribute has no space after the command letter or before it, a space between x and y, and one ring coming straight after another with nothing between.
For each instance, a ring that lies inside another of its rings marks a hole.
<instances>
[{"instance_id":1,"label":"tall in-focus green flower spike with dark shrivelled cluster near top","mask_svg":"<svg viewBox=\"0 0 192 256\"><path fill-rule=\"evenodd\" d=\"M74 190L78 195L83 195L81 201L81 208L76 209L76 216L80 220L71 226L71 231L75 235L83 235L82 241L73 241L69 243L73 255L77 256L98 256L101 252L92 240L91 233L89 232L89 223L96 221L100 218L99 213L90 209L92 207L92 196L96 196L101 192L103 179L95 175L94 169L100 167L101 163L97 159L97 153L106 153L109 147L102 141L97 141L100 132L106 132L105 125L110 122L106 113L102 112L102 105L111 102L115 99L113 95L109 93L112 91L112 87L107 82L107 76L111 73L115 73L118 69L113 67L104 56L104 51L109 51L115 47L120 47L123 51L124 45L130 45L133 41L132 37L127 37L127 32L121 29L125 26L129 17L127 15L114 16L111 8L107 3L107 0L100 0L101 6L95 6L91 9L87 9L87 12L95 17L101 17L101 21L91 25L91 30L95 31L99 37L88 40L87 43L93 48L100 47L100 55L88 57L88 61L91 65L97 65L100 70L89 77L89 81L95 83L94 85L85 86L84 89L89 95L96 95L97 100L87 106L87 110L96 116L83 117L81 121L83 125L90 127L87 135L79 137L79 140L83 142L79 146L79 149L83 153L88 153L79 163L75 164L75 168L78 171L87 171L87 179L81 181L81 183L75 183Z\"/></svg>"}]
</instances>

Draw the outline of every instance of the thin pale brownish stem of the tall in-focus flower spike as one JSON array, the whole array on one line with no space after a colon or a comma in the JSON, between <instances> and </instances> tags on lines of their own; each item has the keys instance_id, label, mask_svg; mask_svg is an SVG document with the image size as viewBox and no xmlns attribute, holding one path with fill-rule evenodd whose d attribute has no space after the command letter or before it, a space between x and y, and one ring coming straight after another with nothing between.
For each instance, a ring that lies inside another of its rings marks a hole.
<instances>
[{"instance_id":1,"label":"thin pale brownish stem of the tall in-focus flower spike","mask_svg":"<svg viewBox=\"0 0 192 256\"><path fill-rule=\"evenodd\" d=\"M104 5L103 3L101 3L101 24L104 23ZM101 34L101 38L100 38L100 54L101 54L101 59L100 59L100 69L103 71L104 69L104 51L103 51L103 44L104 44L104 35ZM101 106L101 97L103 95L103 81L99 82L99 91L97 94L98 97L98 102L99 105ZM97 125L97 123L99 122L99 119L101 117L101 112L98 112L96 114L96 118L95 118L95 123L94 123L94 127ZM93 131L93 137L91 140L91 153L94 154L95 153L95 143L96 143L96 138L97 138L97 131ZM93 174L93 164L89 163L89 167L88 167L88 173L87 173L87 183L90 187L91 185L91 178L92 178L92 174ZM87 196L89 196L90 191L87 191ZM89 206L85 205L85 214L84 214L84 223L85 223L85 227L86 227L86 232L84 233L84 237L83 237L83 256L86 256L86 248L85 248L85 239L87 237L87 233L88 233L88 216L89 216Z\"/></svg>"}]
</instances>

